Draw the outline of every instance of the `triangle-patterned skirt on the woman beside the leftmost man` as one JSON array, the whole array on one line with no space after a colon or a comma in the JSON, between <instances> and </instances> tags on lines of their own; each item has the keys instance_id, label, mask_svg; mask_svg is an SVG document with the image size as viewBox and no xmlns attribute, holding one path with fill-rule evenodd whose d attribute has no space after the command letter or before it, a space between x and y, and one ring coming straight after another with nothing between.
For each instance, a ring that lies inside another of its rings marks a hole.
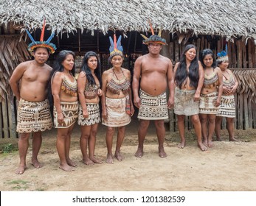
<instances>
[{"instance_id":1,"label":"triangle-patterned skirt on the woman beside the leftmost man","mask_svg":"<svg viewBox=\"0 0 256 206\"><path fill-rule=\"evenodd\" d=\"M57 110L53 107L53 118L55 128L68 128L77 121L78 102L60 102L60 108L64 117L62 124L58 123Z\"/></svg>"}]
</instances>

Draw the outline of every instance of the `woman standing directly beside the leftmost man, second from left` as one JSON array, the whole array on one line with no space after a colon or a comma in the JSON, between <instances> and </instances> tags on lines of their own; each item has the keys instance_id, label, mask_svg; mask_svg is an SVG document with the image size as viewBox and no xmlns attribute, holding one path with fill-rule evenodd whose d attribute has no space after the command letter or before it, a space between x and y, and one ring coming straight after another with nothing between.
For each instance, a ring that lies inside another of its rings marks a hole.
<instances>
[{"instance_id":1,"label":"woman standing directly beside the leftmost man, second from left","mask_svg":"<svg viewBox=\"0 0 256 206\"><path fill-rule=\"evenodd\" d=\"M77 120L77 81L75 53L63 50L58 54L52 70L54 126L58 128L56 147L60 157L59 168L72 171L76 164L69 158L72 129Z\"/></svg>"}]
</instances>

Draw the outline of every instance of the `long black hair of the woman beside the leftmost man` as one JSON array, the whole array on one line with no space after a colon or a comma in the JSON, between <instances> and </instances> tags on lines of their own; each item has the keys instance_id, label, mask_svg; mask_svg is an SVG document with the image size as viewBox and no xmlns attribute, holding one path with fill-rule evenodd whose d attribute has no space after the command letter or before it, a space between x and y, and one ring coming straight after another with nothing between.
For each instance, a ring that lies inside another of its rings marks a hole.
<instances>
[{"instance_id":1,"label":"long black hair of the woman beside the leftmost man","mask_svg":"<svg viewBox=\"0 0 256 206\"><path fill-rule=\"evenodd\" d=\"M52 98L52 79L55 76L57 71L64 71L64 67L62 65L63 61L66 60L66 57L71 54L75 60L75 52L69 51L69 50L62 50L58 54L58 56L55 59L55 63L52 67L52 72L50 75L49 83L48 83L48 100L49 100L49 105L50 105L50 110L51 113L53 111L53 98ZM75 76L75 63L73 65L72 71L70 73Z\"/></svg>"}]
</instances>

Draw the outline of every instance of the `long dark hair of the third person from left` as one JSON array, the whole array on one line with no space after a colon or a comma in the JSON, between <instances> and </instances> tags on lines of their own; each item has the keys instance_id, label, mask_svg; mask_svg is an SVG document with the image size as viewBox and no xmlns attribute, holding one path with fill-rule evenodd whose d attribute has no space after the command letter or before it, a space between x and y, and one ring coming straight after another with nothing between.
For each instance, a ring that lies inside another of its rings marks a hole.
<instances>
[{"instance_id":1,"label":"long dark hair of the third person from left","mask_svg":"<svg viewBox=\"0 0 256 206\"><path fill-rule=\"evenodd\" d=\"M83 63L81 66L81 71L86 73L86 78L88 79L88 82L90 85L95 85L96 82L94 80L94 77L92 77L91 69L88 66L88 60L90 57L96 57L97 58L97 68L94 71L94 74L96 75L97 79L99 79L100 85L101 85L101 72L100 72L100 60L97 54L94 51L88 51L84 57L83 57Z\"/></svg>"}]
</instances>

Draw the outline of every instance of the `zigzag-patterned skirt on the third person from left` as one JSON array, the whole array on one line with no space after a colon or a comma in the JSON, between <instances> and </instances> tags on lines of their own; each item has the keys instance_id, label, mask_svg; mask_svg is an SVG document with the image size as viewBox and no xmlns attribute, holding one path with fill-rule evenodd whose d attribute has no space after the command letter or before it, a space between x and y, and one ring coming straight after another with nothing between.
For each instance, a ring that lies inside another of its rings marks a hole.
<instances>
[{"instance_id":1,"label":"zigzag-patterned skirt on the third person from left","mask_svg":"<svg viewBox=\"0 0 256 206\"><path fill-rule=\"evenodd\" d=\"M83 108L81 104L78 107L78 121L77 124L81 126L89 126L100 123L100 107L98 103L86 103L88 118L83 118Z\"/></svg>"}]
</instances>

